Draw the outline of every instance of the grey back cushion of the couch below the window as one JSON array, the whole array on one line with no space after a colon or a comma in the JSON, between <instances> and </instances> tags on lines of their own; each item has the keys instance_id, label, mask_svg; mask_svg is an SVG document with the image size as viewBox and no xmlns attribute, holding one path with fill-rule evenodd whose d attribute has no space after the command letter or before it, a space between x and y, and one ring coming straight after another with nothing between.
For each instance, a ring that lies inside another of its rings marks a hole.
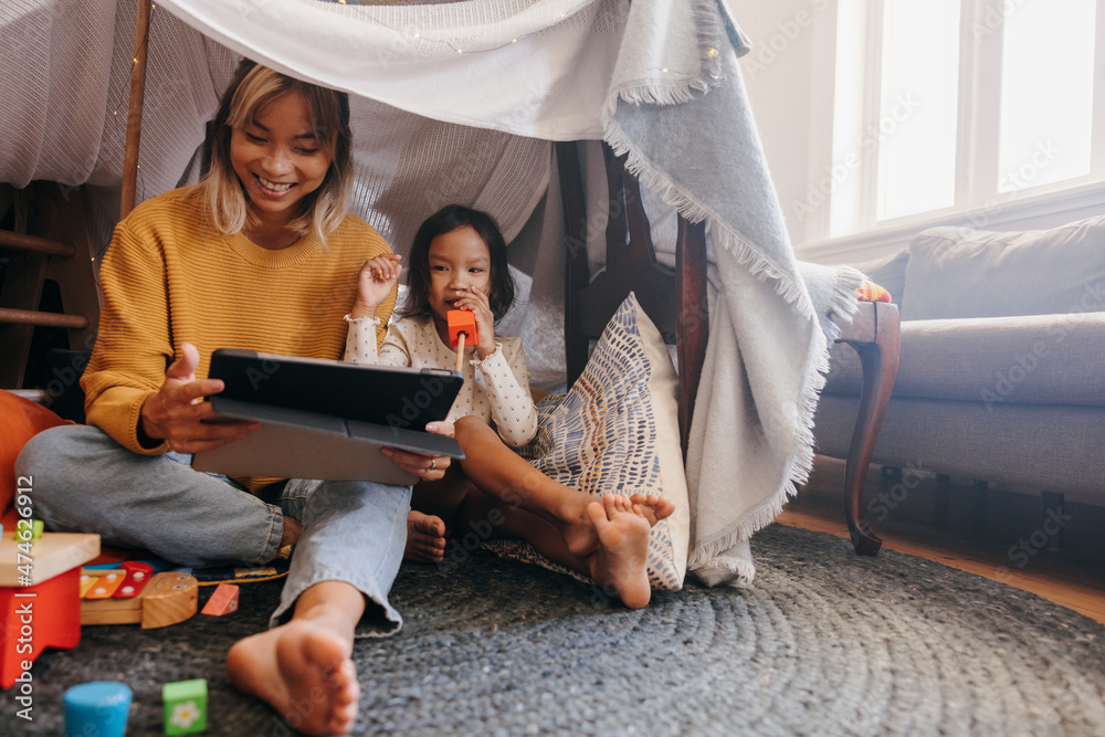
<instances>
[{"instance_id":1,"label":"grey back cushion of the couch below the window","mask_svg":"<svg viewBox=\"0 0 1105 737\"><path fill-rule=\"evenodd\" d=\"M1009 233L930 228L909 243L905 281L909 320L1105 310L1105 215Z\"/></svg>"}]
</instances>

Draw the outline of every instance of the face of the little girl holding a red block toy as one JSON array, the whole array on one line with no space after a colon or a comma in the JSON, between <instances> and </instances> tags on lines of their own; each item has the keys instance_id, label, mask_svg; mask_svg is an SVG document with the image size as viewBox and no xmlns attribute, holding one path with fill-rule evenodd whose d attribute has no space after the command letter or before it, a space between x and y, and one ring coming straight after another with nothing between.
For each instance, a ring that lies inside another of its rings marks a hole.
<instances>
[{"instance_id":1,"label":"face of the little girl holding a red block toy","mask_svg":"<svg viewBox=\"0 0 1105 737\"><path fill-rule=\"evenodd\" d=\"M430 241L430 310L439 320L453 309L461 292L475 287L491 292L491 252L471 225Z\"/></svg>"}]
</instances>

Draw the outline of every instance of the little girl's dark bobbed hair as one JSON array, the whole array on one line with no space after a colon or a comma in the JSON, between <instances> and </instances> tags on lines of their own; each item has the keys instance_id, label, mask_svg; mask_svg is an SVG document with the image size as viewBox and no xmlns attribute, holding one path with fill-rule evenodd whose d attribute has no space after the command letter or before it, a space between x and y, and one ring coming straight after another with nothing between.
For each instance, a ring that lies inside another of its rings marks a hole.
<instances>
[{"instance_id":1,"label":"little girl's dark bobbed hair","mask_svg":"<svg viewBox=\"0 0 1105 737\"><path fill-rule=\"evenodd\" d=\"M514 277L506 257L506 241L495 220L463 204L446 204L425 219L414 234L407 273L407 299L400 317L430 317L430 242L457 228L469 227L487 245L491 254L491 294L487 302L498 322L514 305Z\"/></svg>"}]
</instances>

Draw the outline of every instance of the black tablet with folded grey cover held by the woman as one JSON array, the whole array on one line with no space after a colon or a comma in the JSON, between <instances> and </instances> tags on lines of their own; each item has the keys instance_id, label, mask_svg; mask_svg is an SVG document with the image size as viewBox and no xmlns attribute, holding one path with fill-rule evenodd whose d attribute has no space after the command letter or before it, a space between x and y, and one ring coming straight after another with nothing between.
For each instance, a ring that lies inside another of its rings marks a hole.
<instances>
[{"instance_id":1,"label":"black tablet with folded grey cover held by the woman","mask_svg":"<svg viewBox=\"0 0 1105 737\"><path fill-rule=\"evenodd\" d=\"M381 449L464 457L455 440L424 432L449 413L464 382L456 371L220 349L209 376L225 383L210 398L212 409L261 429L197 453L197 471L409 485L418 477Z\"/></svg>"}]
</instances>

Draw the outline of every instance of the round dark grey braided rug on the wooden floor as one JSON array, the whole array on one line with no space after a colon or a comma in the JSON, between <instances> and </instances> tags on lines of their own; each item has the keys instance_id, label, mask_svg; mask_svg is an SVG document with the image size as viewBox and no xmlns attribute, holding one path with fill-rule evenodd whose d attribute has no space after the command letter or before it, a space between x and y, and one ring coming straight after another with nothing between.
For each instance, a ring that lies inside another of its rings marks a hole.
<instances>
[{"instance_id":1,"label":"round dark grey braided rug on the wooden floor","mask_svg":"<svg viewBox=\"0 0 1105 737\"><path fill-rule=\"evenodd\" d=\"M391 638L361 641L355 734L1105 734L1105 628L920 558L772 526L750 590L688 585L625 611L562 576L477 554L404 566ZM161 684L204 677L209 735L294 734L227 683L280 582L165 630L86 628L35 664L33 722L0 696L0 734L62 734L61 695L135 692L128 735L160 735ZM210 589L201 593L207 597Z\"/></svg>"}]
</instances>

